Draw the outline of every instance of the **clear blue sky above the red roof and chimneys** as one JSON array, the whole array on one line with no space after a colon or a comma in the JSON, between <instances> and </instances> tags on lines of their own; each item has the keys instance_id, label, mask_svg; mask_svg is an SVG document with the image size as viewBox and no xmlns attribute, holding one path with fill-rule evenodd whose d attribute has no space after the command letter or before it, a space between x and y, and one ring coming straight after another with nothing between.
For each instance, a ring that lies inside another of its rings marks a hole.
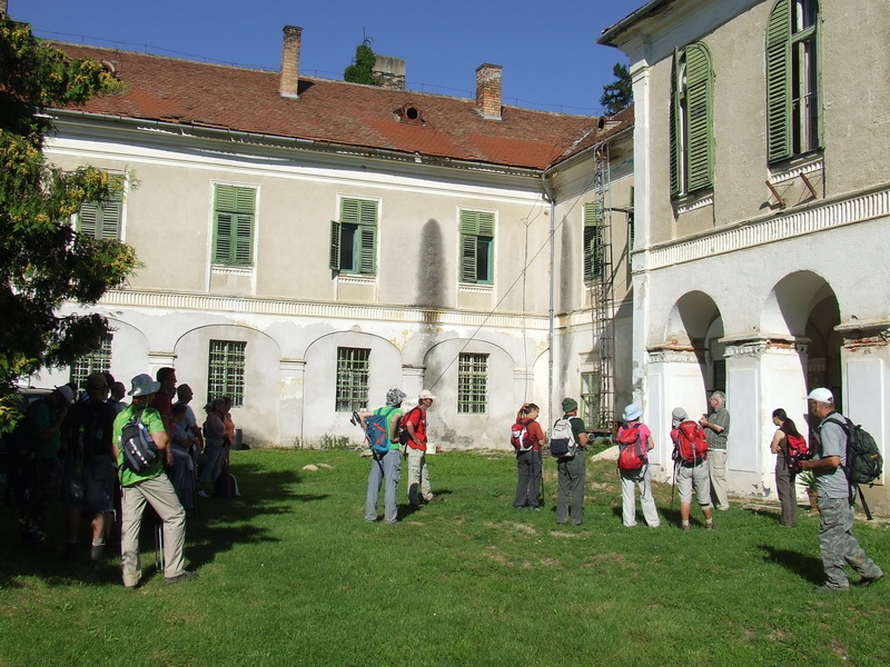
<instances>
[{"instance_id":1,"label":"clear blue sky above the red roof and chimneys","mask_svg":"<svg viewBox=\"0 0 890 667\"><path fill-rule=\"evenodd\" d=\"M596 43L645 0L9 0L38 37L278 70L281 28L303 28L300 71L342 79L365 37L403 58L407 87L475 96L475 70L500 64L504 103L596 115L624 54Z\"/></svg>"}]
</instances>

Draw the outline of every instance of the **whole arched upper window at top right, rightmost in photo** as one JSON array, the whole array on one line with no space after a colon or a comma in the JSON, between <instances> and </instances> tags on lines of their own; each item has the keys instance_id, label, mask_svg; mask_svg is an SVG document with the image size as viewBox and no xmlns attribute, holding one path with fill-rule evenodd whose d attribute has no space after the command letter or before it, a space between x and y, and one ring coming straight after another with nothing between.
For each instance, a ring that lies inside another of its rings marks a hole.
<instances>
[{"instance_id":1,"label":"whole arched upper window at top right, rightmost in photo","mask_svg":"<svg viewBox=\"0 0 890 667\"><path fill-rule=\"evenodd\" d=\"M822 147L818 0L779 0L767 28L770 163Z\"/></svg>"}]
</instances>

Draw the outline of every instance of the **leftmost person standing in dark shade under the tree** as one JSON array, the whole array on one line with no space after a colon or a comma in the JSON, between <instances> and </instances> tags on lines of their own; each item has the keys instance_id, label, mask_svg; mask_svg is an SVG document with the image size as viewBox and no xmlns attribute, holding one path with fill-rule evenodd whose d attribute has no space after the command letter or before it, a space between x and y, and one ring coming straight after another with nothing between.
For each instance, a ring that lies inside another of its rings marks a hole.
<instances>
[{"instance_id":1,"label":"leftmost person standing in dark shade under the tree","mask_svg":"<svg viewBox=\"0 0 890 667\"><path fill-rule=\"evenodd\" d=\"M61 428L72 400L73 389L62 385L32 402L24 415L32 469L22 507L21 538L24 547L37 551L53 549L47 541L47 515L56 500L59 451L62 448Z\"/></svg>"}]
</instances>

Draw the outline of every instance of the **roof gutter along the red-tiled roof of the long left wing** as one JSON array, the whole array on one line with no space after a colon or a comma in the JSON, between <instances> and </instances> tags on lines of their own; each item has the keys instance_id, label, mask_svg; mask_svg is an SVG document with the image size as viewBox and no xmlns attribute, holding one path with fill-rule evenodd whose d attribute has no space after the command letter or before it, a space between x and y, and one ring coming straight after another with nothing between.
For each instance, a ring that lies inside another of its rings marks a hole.
<instances>
[{"instance_id":1,"label":"roof gutter along the red-tiled roof of the long left wing","mask_svg":"<svg viewBox=\"0 0 890 667\"><path fill-rule=\"evenodd\" d=\"M436 156L423 156L419 153L407 153L396 150L373 148L366 146L355 146L348 143L334 143L318 139L301 139L298 137L284 137L280 135L265 135L246 130L233 130L230 128L212 128L191 123L178 123L157 119L132 118L129 116L112 116L108 113L92 113L90 111L75 111L71 109L53 109L52 113L58 117L70 116L72 118L83 118L88 120L112 120L129 126L154 127L159 132L185 136L191 131L200 138L205 135L210 139L243 139L255 143L279 145L281 147L295 148L298 150L314 150L328 153L352 153L355 156L376 157L379 159L399 162L421 162L437 167L451 167L453 169L467 169L475 171L488 171L507 176L521 176L526 178L541 178L541 169L532 167L510 167L495 165L492 162L479 162L474 160L459 160L454 158L443 158Z\"/></svg>"}]
</instances>

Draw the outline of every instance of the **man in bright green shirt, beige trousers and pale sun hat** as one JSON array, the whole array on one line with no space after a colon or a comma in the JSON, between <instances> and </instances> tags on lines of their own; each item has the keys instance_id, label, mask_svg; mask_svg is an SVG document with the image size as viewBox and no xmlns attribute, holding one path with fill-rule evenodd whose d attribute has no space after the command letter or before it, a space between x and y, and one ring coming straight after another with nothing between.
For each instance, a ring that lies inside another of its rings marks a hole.
<instances>
[{"instance_id":1,"label":"man in bright green shirt, beige trousers and pale sun hat","mask_svg":"<svg viewBox=\"0 0 890 667\"><path fill-rule=\"evenodd\" d=\"M197 576L185 569L182 550L186 544L186 510L164 471L164 466L172 466L174 455L169 447L167 428L160 412L149 408L160 382L151 376L141 374L132 379L129 395L132 402L115 419L113 449L120 466L121 500L120 526L120 564L123 571L123 585L136 588L142 577L139 563L139 529L142 526L142 512L146 502L151 505L164 521L164 577L174 584L186 581ZM123 427L132 419L139 418L149 437L158 449L158 457L139 472L126 462L121 447Z\"/></svg>"}]
</instances>

